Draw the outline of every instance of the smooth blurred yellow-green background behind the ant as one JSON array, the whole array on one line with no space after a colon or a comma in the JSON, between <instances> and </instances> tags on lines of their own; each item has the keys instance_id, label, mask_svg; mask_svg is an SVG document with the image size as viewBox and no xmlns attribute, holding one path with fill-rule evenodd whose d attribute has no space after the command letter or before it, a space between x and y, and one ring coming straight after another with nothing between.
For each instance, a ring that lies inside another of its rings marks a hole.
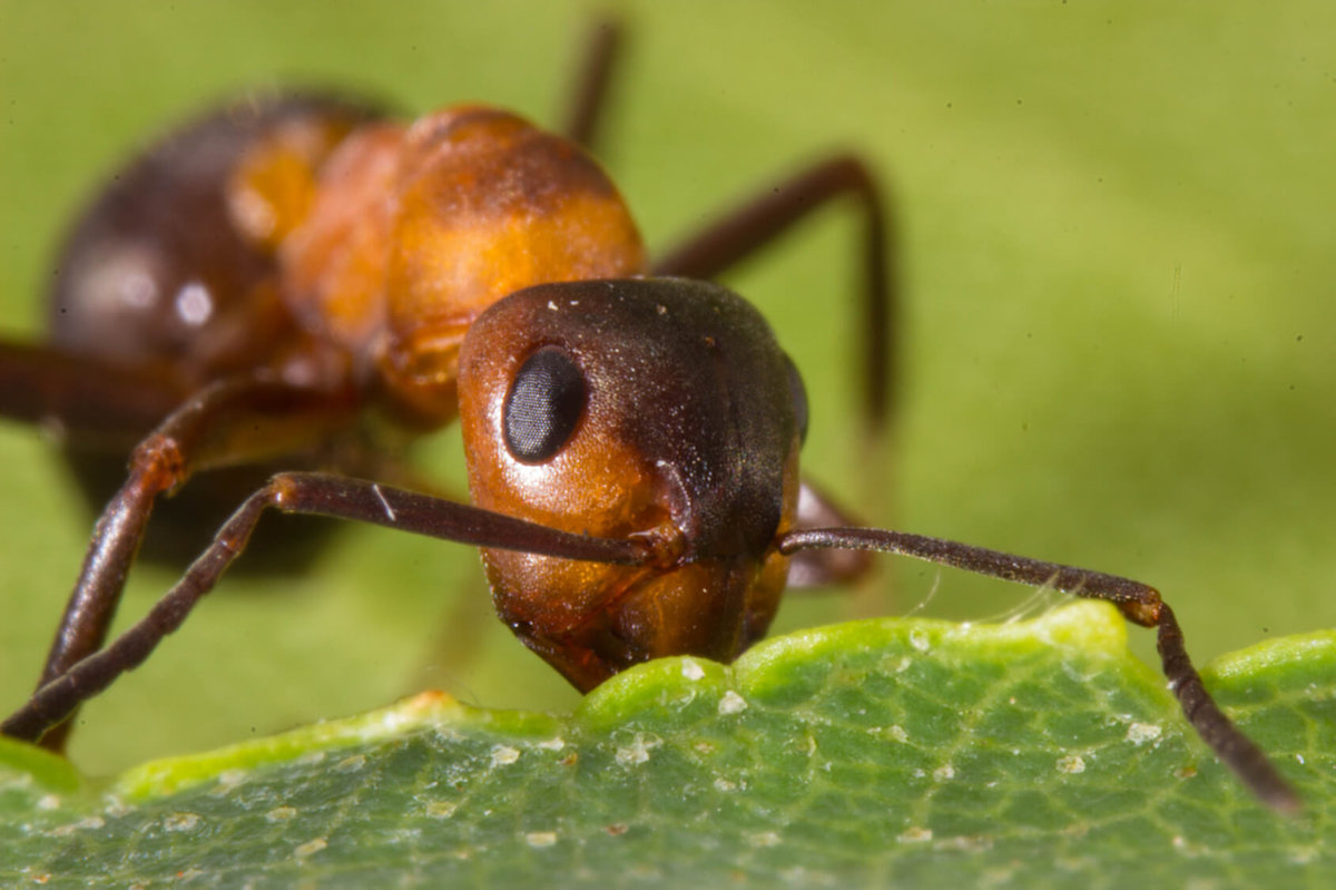
<instances>
[{"instance_id":1,"label":"smooth blurred yellow-green background behind the ant","mask_svg":"<svg viewBox=\"0 0 1336 890\"><path fill-rule=\"evenodd\" d=\"M51 249L135 146L261 86L482 99L550 122L600 9L574 3L0 0L0 329L32 337ZM1336 624L1336 8L1291 3L612 4L632 43L604 160L652 245L834 147L902 215L904 412L858 441L851 214L728 282L807 376L807 473L880 524L1158 584L1204 659ZM444 432L424 462L458 478ZM90 517L33 430L0 426L0 710L32 683ZM904 612L898 563L855 605ZM123 615L171 581L146 568ZM941 575L929 615L1026 591ZM488 617L476 556L343 529L299 577L227 583L84 712L94 772L438 686L574 694ZM1149 652L1149 635L1137 635Z\"/></svg>"}]
</instances>

